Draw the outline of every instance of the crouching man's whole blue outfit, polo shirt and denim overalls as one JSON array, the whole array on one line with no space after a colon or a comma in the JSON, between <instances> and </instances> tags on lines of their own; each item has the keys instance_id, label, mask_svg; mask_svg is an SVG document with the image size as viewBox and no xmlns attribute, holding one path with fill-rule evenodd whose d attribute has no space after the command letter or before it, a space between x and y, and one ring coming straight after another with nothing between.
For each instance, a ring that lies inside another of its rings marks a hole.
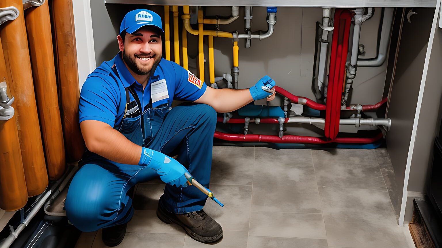
<instances>
[{"instance_id":1,"label":"crouching man's whole blue outfit, polo shirt and denim overalls","mask_svg":"<svg viewBox=\"0 0 442 248\"><path fill-rule=\"evenodd\" d=\"M190 102L170 108L174 98L198 99L206 85L179 65L161 60L143 90L122 63L118 53L88 76L80 94L80 122L100 120L137 145L178 154L177 160L208 188L216 112L209 105ZM169 98L152 103L150 85L162 79ZM69 186L65 209L69 221L84 232L129 222L133 207L128 191L158 178L146 166L116 163L88 151L81 165ZM160 202L172 213L188 213L201 210L206 195L195 187L167 184Z\"/></svg>"}]
</instances>

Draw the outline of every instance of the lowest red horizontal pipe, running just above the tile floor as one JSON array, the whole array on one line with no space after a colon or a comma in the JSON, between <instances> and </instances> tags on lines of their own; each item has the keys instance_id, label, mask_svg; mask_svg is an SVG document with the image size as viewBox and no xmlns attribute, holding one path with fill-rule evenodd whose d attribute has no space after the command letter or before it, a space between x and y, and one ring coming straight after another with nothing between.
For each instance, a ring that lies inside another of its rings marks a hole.
<instances>
[{"instance_id":1,"label":"lowest red horizontal pipe, running just above the tile floor","mask_svg":"<svg viewBox=\"0 0 442 248\"><path fill-rule=\"evenodd\" d=\"M231 134L215 131L214 138L228 141L242 141L242 142L267 142L267 143L309 143L309 144L327 144L327 143L358 143L366 144L373 143L382 138L382 133L371 138L335 138L325 140L320 137L298 136L298 135L284 135L279 138L277 135L258 135L258 134Z\"/></svg>"}]
</instances>

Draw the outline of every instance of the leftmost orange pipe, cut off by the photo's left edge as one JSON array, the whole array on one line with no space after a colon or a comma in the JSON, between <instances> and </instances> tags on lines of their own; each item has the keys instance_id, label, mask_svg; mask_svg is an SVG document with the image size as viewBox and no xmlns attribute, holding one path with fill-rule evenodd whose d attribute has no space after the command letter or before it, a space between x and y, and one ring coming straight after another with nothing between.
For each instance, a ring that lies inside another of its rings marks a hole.
<instances>
[{"instance_id":1,"label":"leftmost orange pipe, cut off by the photo's left edge","mask_svg":"<svg viewBox=\"0 0 442 248\"><path fill-rule=\"evenodd\" d=\"M3 58L0 43L0 81L10 82ZM25 206L28 195L15 115L0 120L0 140L0 208L15 211Z\"/></svg>"}]
</instances>

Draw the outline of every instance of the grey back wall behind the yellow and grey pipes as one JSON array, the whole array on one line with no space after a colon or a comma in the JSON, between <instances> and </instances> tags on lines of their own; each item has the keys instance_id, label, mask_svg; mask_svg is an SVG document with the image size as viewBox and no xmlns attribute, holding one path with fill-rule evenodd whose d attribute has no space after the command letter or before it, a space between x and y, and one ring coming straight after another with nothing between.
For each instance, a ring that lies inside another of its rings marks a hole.
<instances>
[{"instance_id":1,"label":"grey back wall behind the yellow and grey pipes","mask_svg":"<svg viewBox=\"0 0 442 248\"><path fill-rule=\"evenodd\" d=\"M95 58L97 65L111 59L118 52L116 36L120 21L127 11L135 8L149 8L164 16L162 6L105 4L91 0L92 24L94 32ZM181 11L181 8L179 8ZM362 25L361 43L366 46L366 57L376 55L376 36L380 19L380 9L372 19ZM228 7L207 7L206 15L230 15ZM266 8L253 8L252 30L267 30ZM244 8L240 8L240 18L229 25L221 26L223 31L238 30L244 33ZM172 15L171 15L172 17ZM322 17L321 8L278 8L274 34L262 41L252 40L251 48L244 48L244 40L239 42L239 88L252 86L263 75L270 75L279 86L293 94L314 99L311 90L313 54L315 48L315 23ZM181 25L181 21L180 21ZM208 25L210 26L210 25ZM181 34L181 32L180 32ZM173 25L171 19L171 39ZM181 42L181 41L180 41ZM205 58L208 60L207 37L205 38ZM189 69L196 75L198 37L188 34ZM215 76L230 73L232 67L232 39L214 38ZM173 42L171 42L171 59ZM192 66L193 65L193 66ZM205 78L209 81L208 63ZM192 68L193 67L193 68ZM386 63L379 68L358 68L354 80L351 103L374 104L381 100L385 82Z\"/></svg>"}]
</instances>

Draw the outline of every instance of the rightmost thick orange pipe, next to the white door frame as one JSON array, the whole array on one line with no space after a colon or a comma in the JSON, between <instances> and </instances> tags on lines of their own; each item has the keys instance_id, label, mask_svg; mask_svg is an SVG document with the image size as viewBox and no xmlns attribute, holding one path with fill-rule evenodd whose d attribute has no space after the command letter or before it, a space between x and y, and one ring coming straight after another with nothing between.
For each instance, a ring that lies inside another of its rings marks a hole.
<instances>
[{"instance_id":1,"label":"rightmost thick orange pipe, next to the white door frame","mask_svg":"<svg viewBox=\"0 0 442 248\"><path fill-rule=\"evenodd\" d=\"M52 8L66 159L68 162L74 162L80 160L85 146L78 118L80 86L72 0L52 0Z\"/></svg>"}]
</instances>

